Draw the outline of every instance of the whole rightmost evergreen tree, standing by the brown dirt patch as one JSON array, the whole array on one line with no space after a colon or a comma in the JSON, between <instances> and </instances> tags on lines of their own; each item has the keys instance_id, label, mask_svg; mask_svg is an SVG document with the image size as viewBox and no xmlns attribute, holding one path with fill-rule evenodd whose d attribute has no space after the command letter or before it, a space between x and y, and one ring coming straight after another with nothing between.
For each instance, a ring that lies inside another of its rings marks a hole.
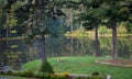
<instances>
[{"instance_id":1,"label":"whole rightmost evergreen tree, standing by the brown dirt patch","mask_svg":"<svg viewBox=\"0 0 132 79\"><path fill-rule=\"evenodd\" d=\"M107 26L112 29L112 57L118 58L117 53L117 25L130 20L131 12L130 0L103 0L103 18L107 19Z\"/></svg>"}]
</instances>

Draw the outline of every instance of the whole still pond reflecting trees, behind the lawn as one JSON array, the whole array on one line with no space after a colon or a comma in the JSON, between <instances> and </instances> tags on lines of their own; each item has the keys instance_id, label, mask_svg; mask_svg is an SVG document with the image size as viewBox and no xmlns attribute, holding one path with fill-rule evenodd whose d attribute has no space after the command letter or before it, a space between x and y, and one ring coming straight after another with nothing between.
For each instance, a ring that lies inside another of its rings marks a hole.
<instances>
[{"instance_id":1,"label":"whole still pond reflecting trees, behind the lawn","mask_svg":"<svg viewBox=\"0 0 132 79\"><path fill-rule=\"evenodd\" d=\"M118 37L118 54L123 58L132 59L132 36ZM111 56L112 38L99 37L100 55ZM0 65L10 65L20 69L22 64L38 59L38 42L34 40L31 45L23 40L0 41ZM46 53L48 57L87 56L94 55L95 40L92 37L46 37Z\"/></svg>"}]
</instances>

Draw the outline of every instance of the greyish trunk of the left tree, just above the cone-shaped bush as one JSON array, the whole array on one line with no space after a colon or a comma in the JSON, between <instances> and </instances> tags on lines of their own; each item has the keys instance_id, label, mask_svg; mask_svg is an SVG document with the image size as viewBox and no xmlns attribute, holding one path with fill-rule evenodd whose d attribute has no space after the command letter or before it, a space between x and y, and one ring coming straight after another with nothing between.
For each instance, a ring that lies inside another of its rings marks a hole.
<instances>
[{"instance_id":1,"label":"greyish trunk of the left tree, just above the cone-shaped bush","mask_svg":"<svg viewBox=\"0 0 132 79\"><path fill-rule=\"evenodd\" d=\"M40 50L41 56L42 56L42 64L44 64L45 60L46 60L46 48L45 48L46 43L45 43L45 36L44 35L40 35L38 43L40 43L38 50Z\"/></svg>"}]
</instances>

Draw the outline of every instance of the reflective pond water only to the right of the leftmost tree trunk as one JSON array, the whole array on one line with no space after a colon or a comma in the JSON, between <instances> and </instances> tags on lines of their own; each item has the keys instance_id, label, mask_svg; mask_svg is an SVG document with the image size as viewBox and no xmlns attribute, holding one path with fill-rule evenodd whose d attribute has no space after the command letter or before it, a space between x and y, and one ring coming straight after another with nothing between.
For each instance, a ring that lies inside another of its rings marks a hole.
<instances>
[{"instance_id":1,"label":"reflective pond water only to the right of the leftmost tree trunk","mask_svg":"<svg viewBox=\"0 0 132 79\"><path fill-rule=\"evenodd\" d=\"M118 37L118 54L120 57L131 58L132 37ZM100 37L100 55L112 55L112 37ZM86 56L94 55L95 40L89 37L59 37L47 40L47 53L50 56Z\"/></svg>"}]
</instances>

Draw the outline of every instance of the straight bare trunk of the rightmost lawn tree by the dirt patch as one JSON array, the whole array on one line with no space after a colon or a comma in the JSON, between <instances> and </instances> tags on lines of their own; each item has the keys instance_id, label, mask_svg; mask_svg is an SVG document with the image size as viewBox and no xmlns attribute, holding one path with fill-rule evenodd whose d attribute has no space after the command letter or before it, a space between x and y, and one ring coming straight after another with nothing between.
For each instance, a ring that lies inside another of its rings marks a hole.
<instances>
[{"instance_id":1,"label":"straight bare trunk of the rightmost lawn tree by the dirt patch","mask_svg":"<svg viewBox=\"0 0 132 79\"><path fill-rule=\"evenodd\" d=\"M114 20L112 20L112 58L117 59L117 22Z\"/></svg>"}]
</instances>

